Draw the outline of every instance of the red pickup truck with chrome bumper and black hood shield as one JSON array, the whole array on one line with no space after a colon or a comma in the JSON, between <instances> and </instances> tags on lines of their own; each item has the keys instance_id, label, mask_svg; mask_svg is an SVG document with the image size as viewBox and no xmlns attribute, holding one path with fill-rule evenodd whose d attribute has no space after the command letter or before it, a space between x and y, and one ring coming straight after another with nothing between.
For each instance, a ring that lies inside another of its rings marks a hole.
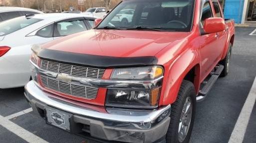
<instances>
[{"instance_id":1,"label":"red pickup truck with chrome bumper and black hood shield","mask_svg":"<svg viewBox=\"0 0 256 143\"><path fill-rule=\"evenodd\" d=\"M189 143L196 101L229 73L235 28L221 9L123 0L94 29L33 46L25 97L47 124L86 138Z\"/></svg>"}]
</instances>

